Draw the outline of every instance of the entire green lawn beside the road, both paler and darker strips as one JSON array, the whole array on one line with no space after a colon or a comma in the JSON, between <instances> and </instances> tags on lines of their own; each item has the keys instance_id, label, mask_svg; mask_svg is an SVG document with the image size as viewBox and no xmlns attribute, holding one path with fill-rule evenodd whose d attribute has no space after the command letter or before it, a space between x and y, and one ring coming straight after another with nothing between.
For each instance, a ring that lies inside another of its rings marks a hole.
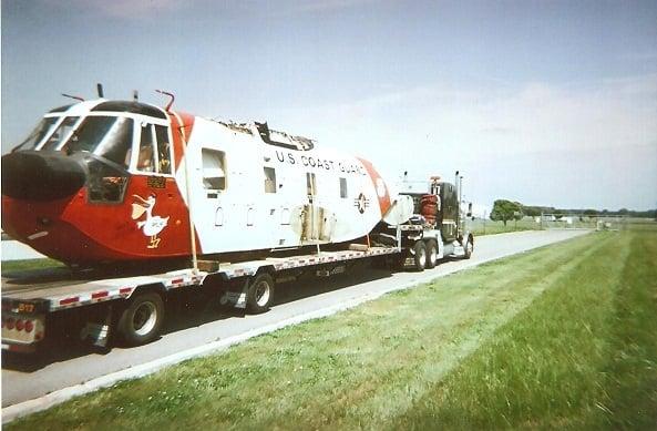
<instances>
[{"instance_id":1,"label":"entire green lawn beside the road, both paler and darker strips","mask_svg":"<svg viewBox=\"0 0 657 431\"><path fill-rule=\"evenodd\" d=\"M655 429L657 230L594 233L251 339L13 429Z\"/></svg>"}]
</instances>

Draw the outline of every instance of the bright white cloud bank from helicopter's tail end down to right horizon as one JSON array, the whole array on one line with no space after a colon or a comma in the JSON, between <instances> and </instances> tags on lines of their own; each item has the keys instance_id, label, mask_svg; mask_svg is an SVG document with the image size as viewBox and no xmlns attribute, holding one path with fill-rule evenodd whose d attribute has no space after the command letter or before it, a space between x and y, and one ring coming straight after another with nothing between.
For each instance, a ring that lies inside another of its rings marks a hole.
<instances>
[{"instance_id":1,"label":"bright white cloud bank from helicopter's tail end down to right horizon","mask_svg":"<svg viewBox=\"0 0 657 431\"><path fill-rule=\"evenodd\" d=\"M461 168L481 204L648 208L657 203L656 113L651 74L568 89L435 84L281 110L270 123L394 176L409 166L422 178Z\"/></svg>"}]
</instances>

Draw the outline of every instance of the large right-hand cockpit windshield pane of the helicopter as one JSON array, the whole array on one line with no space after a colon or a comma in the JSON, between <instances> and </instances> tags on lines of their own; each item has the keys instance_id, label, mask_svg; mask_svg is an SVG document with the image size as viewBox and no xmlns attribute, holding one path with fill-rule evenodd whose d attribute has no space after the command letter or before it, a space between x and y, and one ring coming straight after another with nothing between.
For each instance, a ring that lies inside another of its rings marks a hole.
<instances>
[{"instance_id":1,"label":"large right-hand cockpit windshield pane of the helicopter","mask_svg":"<svg viewBox=\"0 0 657 431\"><path fill-rule=\"evenodd\" d=\"M66 154L89 152L123 167L130 163L133 120L123 116L88 116L62 147Z\"/></svg>"}]
</instances>

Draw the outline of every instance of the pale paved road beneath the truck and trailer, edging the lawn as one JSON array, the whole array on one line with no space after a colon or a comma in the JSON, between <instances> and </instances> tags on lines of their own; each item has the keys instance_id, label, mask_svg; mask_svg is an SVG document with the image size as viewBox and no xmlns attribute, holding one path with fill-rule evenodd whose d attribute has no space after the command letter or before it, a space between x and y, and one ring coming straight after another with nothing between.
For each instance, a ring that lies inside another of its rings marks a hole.
<instances>
[{"instance_id":1,"label":"pale paved road beneath the truck and trailer, edging the lawn","mask_svg":"<svg viewBox=\"0 0 657 431\"><path fill-rule=\"evenodd\" d=\"M491 235L475 238L470 260L443 261L423 273L396 273L361 268L349 275L280 285L276 305L266 314L245 316L239 310L214 304L178 306L167 316L161 339L136 348L114 347L99 352L72 340L57 340L32 358L2 356L2 407L42 397L188 349L275 326L300 315L355 304L387 291L411 287L481 263L584 235L588 230L541 230Z\"/></svg>"}]
</instances>

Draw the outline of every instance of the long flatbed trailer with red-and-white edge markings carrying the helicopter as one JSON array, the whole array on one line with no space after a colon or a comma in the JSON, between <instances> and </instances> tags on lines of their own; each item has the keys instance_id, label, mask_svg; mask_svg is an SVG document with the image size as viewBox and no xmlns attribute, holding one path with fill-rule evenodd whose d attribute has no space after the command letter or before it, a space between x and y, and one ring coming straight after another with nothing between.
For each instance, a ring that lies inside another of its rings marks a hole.
<instances>
[{"instance_id":1,"label":"long flatbed trailer with red-and-white edge markings carrying the helicopter","mask_svg":"<svg viewBox=\"0 0 657 431\"><path fill-rule=\"evenodd\" d=\"M45 339L50 326L63 325L65 318L81 322L75 330L96 346L105 347L115 332L129 345L141 345L157 337L164 320L164 299L173 291L209 289L219 295L224 305L263 312L271 305L277 281L309 271L317 276L343 274L356 261L384 260L400 253L399 242L383 247L349 244L341 249L317 247L305 254L236 263L201 259L197 268L148 275L84 278L81 273L66 279L63 276L68 270L60 268L42 280L3 277L2 349L32 352Z\"/></svg>"}]
</instances>

